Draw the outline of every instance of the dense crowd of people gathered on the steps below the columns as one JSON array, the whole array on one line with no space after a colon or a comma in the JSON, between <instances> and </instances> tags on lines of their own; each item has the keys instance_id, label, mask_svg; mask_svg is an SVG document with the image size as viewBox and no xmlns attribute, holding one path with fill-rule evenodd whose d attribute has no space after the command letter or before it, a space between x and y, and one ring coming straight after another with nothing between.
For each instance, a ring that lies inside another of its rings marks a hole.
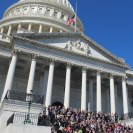
<instances>
[{"instance_id":1,"label":"dense crowd of people gathered on the steps below the columns","mask_svg":"<svg viewBox=\"0 0 133 133\"><path fill-rule=\"evenodd\" d=\"M51 126L51 133L133 133L133 126L118 123L117 114L80 111L56 106L44 108L38 126Z\"/></svg>"}]
</instances>

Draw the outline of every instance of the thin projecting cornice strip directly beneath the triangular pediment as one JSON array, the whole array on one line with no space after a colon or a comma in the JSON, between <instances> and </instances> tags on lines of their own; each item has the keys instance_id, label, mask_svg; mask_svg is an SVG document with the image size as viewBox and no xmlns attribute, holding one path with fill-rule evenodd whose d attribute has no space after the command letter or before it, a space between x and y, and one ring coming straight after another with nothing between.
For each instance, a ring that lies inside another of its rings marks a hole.
<instances>
[{"instance_id":1,"label":"thin projecting cornice strip directly beneath the triangular pediment","mask_svg":"<svg viewBox=\"0 0 133 133\"><path fill-rule=\"evenodd\" d=\"M65 52L67 54L72 54L72 55L76 55L76 56L79 56L79 57L84 57L84 58L89 58L89 59L92 59L92 60L95 60L95 61L98 61L99 63L106 63L106 64L110 64L110 65L113 65L113 66L117 66L117 67L122 67L122 68L127 68L123 65L120 65L120 64L117 64L117 63L112 63L112 62L108 62L108 61L105 61L105 60L101 60L101 59L98 59L98 58L95 58L95 57L91 57L91 56L87 56L87 55L84 55L84 54L79 54L79 53L76 53L74 51L68 51L66 49L62 49L62 48L59 48L59 47L55 47L55 46L51 46L51 45L47 45L44 43L41 43L41 42L38 42L38 41L34 41L34 40L31 40L31 39L27 39L27 38L24 38L24 37L21 37L21 36L13 36L13 39L19 39L19 40L22 40L22 41L27 41L29 43L31 43L32 45L35 45L35 46L39 46L39 47L43 47L43 48L50 48L50 49L53 49L53 50L60 50L62 52ZM12 44L13 45L13 44Z\"/></svg>"}]
</instances>

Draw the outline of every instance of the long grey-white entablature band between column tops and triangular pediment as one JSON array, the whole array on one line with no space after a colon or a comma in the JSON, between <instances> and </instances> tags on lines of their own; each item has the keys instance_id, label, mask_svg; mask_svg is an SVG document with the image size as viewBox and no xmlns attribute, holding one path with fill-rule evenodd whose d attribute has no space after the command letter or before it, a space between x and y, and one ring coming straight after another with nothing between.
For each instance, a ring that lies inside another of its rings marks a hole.
<instances>
[{"instance_id":1,"label":"long grey-white entablature band between column tops and triangular pediment","mask_svg":"<svg viewBox=\"0 0 133 133\"><path fill-rule=\"evenodd\" d=\"M69 62L75 66L100 70L106 73L113 73L114 75L125 76L125 71L127 70L126 67L112 62L106 62L94 57L77 54L66 49L44 45L43 43L19 36L14 36L12 45L14 49L19 49L22 53L34 53L39 55L40 58L53 58L57 62Z\"/></svg>"}]
</instances>

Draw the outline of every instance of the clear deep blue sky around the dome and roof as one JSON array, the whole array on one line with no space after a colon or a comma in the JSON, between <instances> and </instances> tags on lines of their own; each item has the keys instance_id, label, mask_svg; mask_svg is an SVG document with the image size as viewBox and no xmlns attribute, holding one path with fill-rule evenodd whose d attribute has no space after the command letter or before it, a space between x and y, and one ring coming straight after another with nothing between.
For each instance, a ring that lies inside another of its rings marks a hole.
<instances>
[{"instance_id":1,"label":"clear deep blue sky around the dome and roof","mask_svg":"<svg viewBox=\"0 0 133 133\"><path fill-rule=\"evenodd\" d=\"M0 0L0 18L18 0ZM75 8L76 0L70 0ZM133 0L77 0L84 33L133 68Z\"/></svg>"}]
</instances>

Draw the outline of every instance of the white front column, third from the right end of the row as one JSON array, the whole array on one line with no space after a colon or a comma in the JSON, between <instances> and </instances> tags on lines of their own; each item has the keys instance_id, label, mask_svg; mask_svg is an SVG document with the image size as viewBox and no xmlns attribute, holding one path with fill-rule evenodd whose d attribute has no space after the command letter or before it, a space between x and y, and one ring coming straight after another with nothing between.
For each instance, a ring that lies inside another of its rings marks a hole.
<instances>
[{"instance_id":1,"label":"white front column, third from the right end of the row","mask_svg":"<svg viewBox=\"0 0 133 133\"><path fill-rule=\"evenodd\" d=\"M97 71L97 112L102 111L102 99L101 99L101 72Z\"/></svg>"}]
</instances>

